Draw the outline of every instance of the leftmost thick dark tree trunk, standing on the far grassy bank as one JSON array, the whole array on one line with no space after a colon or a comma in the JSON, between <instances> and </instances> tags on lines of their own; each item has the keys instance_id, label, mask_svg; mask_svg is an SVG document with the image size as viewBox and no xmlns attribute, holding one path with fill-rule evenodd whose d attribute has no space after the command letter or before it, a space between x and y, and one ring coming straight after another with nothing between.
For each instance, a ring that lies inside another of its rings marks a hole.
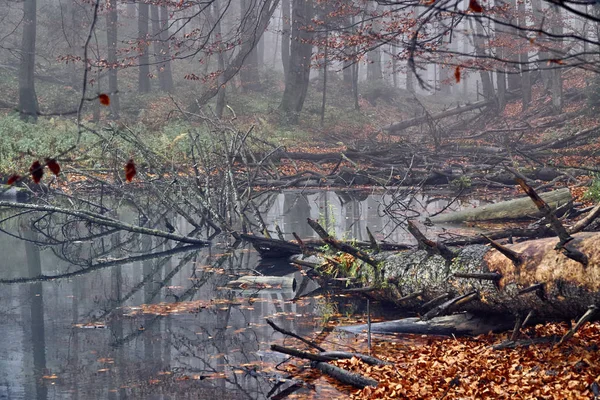
<instances>
[{"instance_id":1,"label":"leftmost thick dark tree trunk, standing on the far grassy bank","mask_svg":"<svg viewBox=\"0 0 600 400\"><path fill-rule=\"evenodd\" d=\"M23 37L21 41L21 68L19 70L19 114L21 119L35 122L37 121L39 112L34 85L35 36L37 30L36 0L25 0L23 2L22 23Z\"/></svg>"}]
</instances>

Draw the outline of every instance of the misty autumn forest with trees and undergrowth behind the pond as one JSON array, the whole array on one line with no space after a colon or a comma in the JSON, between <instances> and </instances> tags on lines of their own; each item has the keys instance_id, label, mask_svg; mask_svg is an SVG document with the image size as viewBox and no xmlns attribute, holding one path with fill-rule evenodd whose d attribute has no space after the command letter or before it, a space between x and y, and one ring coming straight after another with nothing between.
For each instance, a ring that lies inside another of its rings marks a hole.
<instances>
[{"instance_id":1,"label":"misty autumn forest with trees and undergrowth behind the pond","mask_svg":"<svg viewBox=\"0 0 600 400\"><path fill-rule=\"evenodd\" d=\"M236 118L239 128L296 145L385 141L395 122L483 100L493 117L543 103L551 114L576 108L590 120L598 7L4 0L0 173L24 173L32 157L65 158L75 145L83 153L67 160L99 167L107 155L98 138L109 136L121 142L111 154L119 162L143 157L138 139L185 160L185 132L207 118ZM439 134L429 140L439 145Z\"/></svg>"}]
</instances>

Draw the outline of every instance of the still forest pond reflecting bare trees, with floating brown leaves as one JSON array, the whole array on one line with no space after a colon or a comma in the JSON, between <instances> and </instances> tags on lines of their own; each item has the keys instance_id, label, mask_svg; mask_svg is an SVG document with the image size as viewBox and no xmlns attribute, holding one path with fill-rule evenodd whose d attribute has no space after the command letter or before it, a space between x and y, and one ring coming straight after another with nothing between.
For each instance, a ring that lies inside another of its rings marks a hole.
<instances>
[{"instance_id":1,"label":"still forest pond reflecting bare trees, with floating brown leaves","mask_svg":"<svg viewBox=\"0 0 600 400\"><path fill-rule=\"evenodd\" d=\"M430 200L425 195L408 199L407 209L425 217L448 204ZM396 227L396 211L382 212L390 202L363 192L290 191L273 196L264 216L271 228L277 224L301 237L314 236L305 223L311 217L338 237L364 240L368 226L378 239L411 241ZM126 207L119 216L137 218ZM32 219L27 215L2 224L0 279L63 277L0 284L0 398L268 398L286 387L270 393L289 376L277 367L286 358L269 351L284 338L265 318L314 337L327 317L364 312L360 299L294 300L316 289L316 283L301 284L308 278L285 261L261 261L248 247L230 249L229 238L184 252L162 239L125 233L41 246ZM191 230L183 219L172 222L178 232ZM84 228L65 226L63 233ZM153 256L141 257L148 254ZM290 276L298 284L226 287L238 276L256 274ZM364 346L362 339L335 331L326 340L331 348ZM331 397L332 390L323 384L296 394Z\"/></svg>"}]
</instances>

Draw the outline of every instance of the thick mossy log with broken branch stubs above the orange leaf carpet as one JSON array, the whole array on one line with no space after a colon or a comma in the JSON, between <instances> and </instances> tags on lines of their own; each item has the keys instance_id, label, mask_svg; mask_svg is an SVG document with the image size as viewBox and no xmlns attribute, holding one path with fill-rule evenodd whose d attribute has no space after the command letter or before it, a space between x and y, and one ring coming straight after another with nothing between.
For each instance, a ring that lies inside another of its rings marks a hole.
<instances>
[{"instance_id":1,"label":"thick mossy log with broken branch stubs above the orange leaf carpet","mask_svg":"<svg viewBox=\"0 0 600 400\"><path fill-rule=\"evenodd\" d=\"M426 250L381 253L382 289L369 296L430 317L533 311L540 319L576 318L600 304L600 233L578 233L569 242L587 266L556 250L557 243L553 237L503 246L519 254L518 262L485 245L465 246L452 261ZM361 271L366 285L376 280L373 268Z\"/></svg>"}]
</instances>

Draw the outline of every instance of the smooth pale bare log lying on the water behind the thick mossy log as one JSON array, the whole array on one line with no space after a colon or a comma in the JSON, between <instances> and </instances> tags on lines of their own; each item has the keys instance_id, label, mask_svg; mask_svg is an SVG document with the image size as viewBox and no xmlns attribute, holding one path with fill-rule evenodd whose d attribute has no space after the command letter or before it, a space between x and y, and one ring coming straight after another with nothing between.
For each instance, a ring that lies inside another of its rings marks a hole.
<instances>
[{"instance_id":1,"label":"smooth pale bare log lying on the water behind the thick mossy log","mask_svg":"<svg viewBox=\"0 0 600 400\"><path fill-rule=\"evenodd\" d=\"M571 192L568 188L554 190L540 195L552 208L567 204L572 201ZM488 204L483 207L455 211L431 217L431 222L464 222L464 221L491 221L499 219L519 219L526 217L539 217L541 212L529 197L502 201Z\"/></svg>"}]
</instances>

